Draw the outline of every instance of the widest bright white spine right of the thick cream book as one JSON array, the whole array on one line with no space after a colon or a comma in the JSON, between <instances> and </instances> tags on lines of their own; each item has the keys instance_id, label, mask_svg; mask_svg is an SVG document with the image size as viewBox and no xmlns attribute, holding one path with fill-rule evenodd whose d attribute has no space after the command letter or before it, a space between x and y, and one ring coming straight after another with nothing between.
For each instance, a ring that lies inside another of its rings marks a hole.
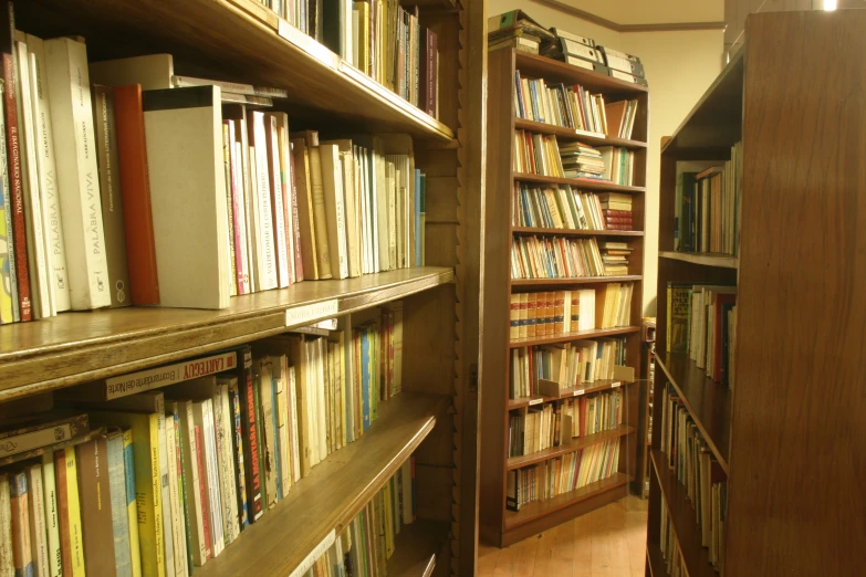
<instances>
[{"instance_id":1,"label":"widest bright white spine right of the thick cream book","mask_svg":"<svg viewBox=\"0 0 866 577\"><path fill-rule=\"evenodd\" d=\"M273 216L271 209L271 183L268 176L268 150L264 137L264 115L250 113L249 133L250 165L252 181L252 230L253 269L255 270L255 290L277 288L277 244L274 242Z\"/></svg>"}]
</instances>

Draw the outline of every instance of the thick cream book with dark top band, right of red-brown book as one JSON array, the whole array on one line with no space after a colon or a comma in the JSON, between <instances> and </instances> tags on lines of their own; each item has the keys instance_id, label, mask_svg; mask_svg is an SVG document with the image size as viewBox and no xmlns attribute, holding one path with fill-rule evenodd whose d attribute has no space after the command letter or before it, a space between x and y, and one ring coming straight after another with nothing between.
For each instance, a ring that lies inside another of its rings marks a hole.
<instances>
[{"instance_id":1,"label":"thick cream book with dark top band, right of red-brown book","mask_svg":"<svg viewBox=\"0 0 866 577\"><path fill-rule=\"evenodd\" d=\"M161 306L229 305L222 116L216 86L142 93Z\"/></svg>"}]
</instances>

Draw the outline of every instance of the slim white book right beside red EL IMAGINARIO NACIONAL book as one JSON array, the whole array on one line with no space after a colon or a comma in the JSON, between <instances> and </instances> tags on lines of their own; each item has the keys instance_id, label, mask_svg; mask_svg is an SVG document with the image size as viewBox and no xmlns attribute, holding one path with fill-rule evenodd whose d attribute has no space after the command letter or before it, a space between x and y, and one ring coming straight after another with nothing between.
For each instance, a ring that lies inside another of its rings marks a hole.
<instances>
[{"instance_id":1,"label":"slim white book right beside red EL IMAGINARIO NACIONAL book","mask_svg":"<svg viewBox=\"0 0 866 577\"><path fill-rule=\"evenodd\" d=\"M18 33L19 35L23 35ZM39 168L36 156L35 126L33 124L33 99L30 94L30 57L27 43L15 41L15 59L18 61L19 82L15 86L19 94L18 109L19 129L23 133L21 147L21 181L24 185L24 212L27 214L27 244L28 261L31 279L35 286L31 285L33 294L33 312L36 318L53 316L54 307L53 282L49 279L49 271L53 270L50 263L45 239L44 220L42 219L42 193L39 181ZM23 120L23 122L22 122Z\"/></svg>"}]
</instances>

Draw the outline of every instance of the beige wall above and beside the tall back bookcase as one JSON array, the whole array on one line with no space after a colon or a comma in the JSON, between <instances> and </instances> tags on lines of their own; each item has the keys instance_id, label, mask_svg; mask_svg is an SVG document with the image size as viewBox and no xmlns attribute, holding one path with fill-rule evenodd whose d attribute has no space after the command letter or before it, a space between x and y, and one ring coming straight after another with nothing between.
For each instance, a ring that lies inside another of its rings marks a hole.
<instances>
[{"instance_id":1,"label":"beige wall above and beside the tall back bookcase","mask_svg":"<svg viewBox=\"0 0 866 577\"><path fill-rule=\"evenodd\" d=\"M580 2L581 9L592 11L588 4L605 4L606 12L598 15L617 21L613 14L622 7L637 6L644 0L608 0L606 2ZM654 0L655 7L676 7L681 0ZM695 14L693 21L722 20L722 0L696 2L712 6L706 14ZM586 4L586 6L585 6ZM644 314L656 314L656 283L658 279L658 178L659 143L679 126L698 98L709 87L722 69L722 31L688 32L626 32L618 33L592 24L559 10L534 3L530 0L488 0L488 13L500 14L521 9L544 27L561 27L577 34L594 39L640 57L649 82L649 149L647 166L646 202L646 250L644 262ZM665 15L667 11L662 11ZM691 14L690 14L691 15ZM706 17L706 18L705 18ZM674 20L657 19L655 22ZM633 23L622 21L618 23ZM648 22L641 22L648 23ZM488 143L488 150L495 150L495 143Z\"/></svg>"}]
</instances>

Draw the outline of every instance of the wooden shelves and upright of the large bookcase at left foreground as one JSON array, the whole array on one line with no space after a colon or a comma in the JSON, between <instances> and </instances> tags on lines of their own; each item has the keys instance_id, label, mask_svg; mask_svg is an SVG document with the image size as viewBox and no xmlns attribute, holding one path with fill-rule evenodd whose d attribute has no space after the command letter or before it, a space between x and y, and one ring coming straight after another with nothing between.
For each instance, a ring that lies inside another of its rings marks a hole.
<instances>
[{"instance_id":1,"label":"wooden shelves and upright of the large bookcase at left foreground","mask_svg":"<svg viewBox=\"0 0 866 577\"><path fill-rule=\"evenodd\" d=\"M342 317L403 302L403 392L379 405L379 419L358 441L313 468L197 575L293 574L411 454L418 522L399 536L388 575L474 574L478 416L471 364L463 359L478 348L471 321L478 275L470 267L478 260L472 232L483 181L471 167L480 166L484 134L483 114L466 111L483 113L486 15L480 2L420 4L421 25L439 38L438 119L255 0L15 2L17 28L42 38L83 36L92 61L171 53L204 77L285 88L289 99L275 107L289 114L293 130L411 135L416 166L428 175L424 266L301 282L232 297L220 311L126 307L0 326L0 416L9 416L58 389L254 344L333 311ZM311 312L323 304L330 312Z\"/></svg>"}]
</instances>

